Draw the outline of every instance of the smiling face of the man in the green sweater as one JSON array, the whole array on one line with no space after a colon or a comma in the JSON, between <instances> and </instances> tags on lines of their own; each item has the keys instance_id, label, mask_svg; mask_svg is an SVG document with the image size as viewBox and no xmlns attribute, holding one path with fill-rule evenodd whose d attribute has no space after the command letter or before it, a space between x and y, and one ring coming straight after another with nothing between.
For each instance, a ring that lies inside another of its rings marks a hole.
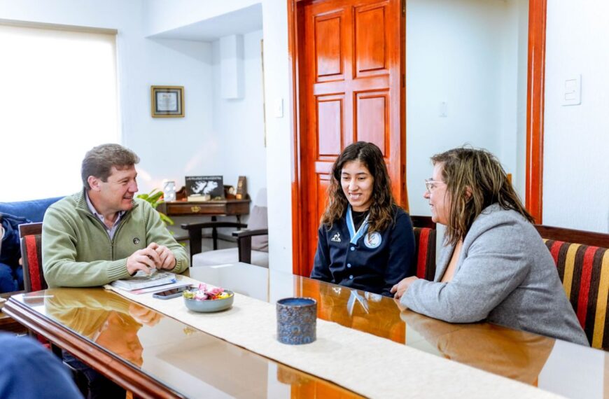
<instances>
[{"instance_id":1,"label":"smiling face of the man in the green sweater","mask_svg":"<svg viewBox=\"0 0 609 399\"><path fill-rule=\"evenodd\" d=\"M102 214L113 214L129 211L133 207L133 197L137 193L137 171L134 165L117 169L112 167L107 181L89 176L90 200L97 211Z\"/></svg>"}]
</instances>

